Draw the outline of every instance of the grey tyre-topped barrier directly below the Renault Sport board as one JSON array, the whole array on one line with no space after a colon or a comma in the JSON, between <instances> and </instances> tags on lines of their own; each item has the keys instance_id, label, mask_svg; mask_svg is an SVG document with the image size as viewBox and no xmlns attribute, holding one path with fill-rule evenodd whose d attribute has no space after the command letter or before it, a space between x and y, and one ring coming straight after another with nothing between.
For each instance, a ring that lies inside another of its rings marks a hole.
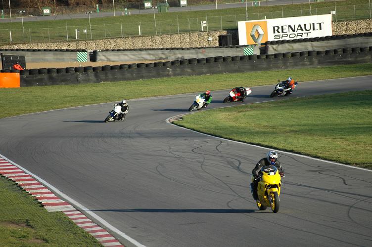
<instances>
[{"instance_id":1,"label":"grey tyre-topped barrier directly below the Renault Sport board","mask_svg":"<svg viewBox=\"0 0 372 247\"><path fill-rule=\"evenodd\" d=\"M295 52L303 50L329 50L343 47L368 47L372 45L372 34L366 34L366 37L355 36L329 36L329 40L321 41L319 38L301 39L289 41L271 41L266 44L266 54L275 54L278 52ZM360 35L362 36L362 34Z\"/></svg>"}]
</instances>

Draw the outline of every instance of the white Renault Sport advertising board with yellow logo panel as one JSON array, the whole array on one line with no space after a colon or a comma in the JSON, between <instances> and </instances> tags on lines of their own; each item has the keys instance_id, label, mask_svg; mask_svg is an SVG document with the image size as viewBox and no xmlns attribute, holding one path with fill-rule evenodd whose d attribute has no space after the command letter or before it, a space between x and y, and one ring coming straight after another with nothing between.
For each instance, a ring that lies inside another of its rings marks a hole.
<instances>
[{"instance_id":1,"label":"white Renault Sport advertising board with yellow logo panel","mask_svg":"<svg viewBox=\"0 0 372 247\"><path fill-rule=\"evenodd\" d=\"M332 35L332 15L239 21L239 45Z\"/></svg>"}]
</instances>

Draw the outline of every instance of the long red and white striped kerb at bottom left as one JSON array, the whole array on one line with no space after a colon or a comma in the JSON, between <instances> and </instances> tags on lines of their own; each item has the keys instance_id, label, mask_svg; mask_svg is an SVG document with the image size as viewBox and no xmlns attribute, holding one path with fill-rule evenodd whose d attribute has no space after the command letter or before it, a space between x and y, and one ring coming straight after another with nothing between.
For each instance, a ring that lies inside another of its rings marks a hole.
<instances>
[{"instance_id":1,"label":"long red and white striped kerb at bottom left","mask_svg":"<svg viewBox=\"0 0 372 247\"><path fill-rule=\"evenodd\" d=\"M0 157L0 175L14 181L22 187L27 193L38 200L48 212L62 211L77 226L87 231L103 246L124 247L104 228L95 224L87 216L77 210L74 206L61 200L54 195L46 186L35 180L30 174L25 173L18 166L7 159Z\"/></svg>"}]
</instances>

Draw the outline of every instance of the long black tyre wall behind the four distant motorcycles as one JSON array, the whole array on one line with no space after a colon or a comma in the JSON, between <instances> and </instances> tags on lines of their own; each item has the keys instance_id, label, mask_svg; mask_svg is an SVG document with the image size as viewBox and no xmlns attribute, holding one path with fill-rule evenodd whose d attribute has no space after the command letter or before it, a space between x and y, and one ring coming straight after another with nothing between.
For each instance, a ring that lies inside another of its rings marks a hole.
<instances>
[{"instance_id":1,"label":"long black tyre wall behind the four distant motorcycles","mask_svg":"<svg viewBox=\"0 0 372 247\"><path fill-rule=\"evenodd\" d=\"M372 46L343 48L323 51L306 51L279 53L272 55L240 56L240 59L230 56L208 57L204 60L182 59L164 62L152 66L143 64L121 64L111 70L110 66L93 67L84 70L68 67L65 73L57 69L57 73L48 74L47 69L29 70L20 75L20 86L64 85L95 82L133 81L174 76L191 76L222 73L241 73L254 71L270 71L282 69L316 68L332 65L347 65L357 63L372 63ZM78 67L79 68L79 67ZM49 70L53 72L54 70ZM78 71L78 72L76 72ZM43 74L39 74L43 72ZM46 72L46 73L44 73ZM58 73L59 72L59 73Z\"/></svg>"}]
</instances>

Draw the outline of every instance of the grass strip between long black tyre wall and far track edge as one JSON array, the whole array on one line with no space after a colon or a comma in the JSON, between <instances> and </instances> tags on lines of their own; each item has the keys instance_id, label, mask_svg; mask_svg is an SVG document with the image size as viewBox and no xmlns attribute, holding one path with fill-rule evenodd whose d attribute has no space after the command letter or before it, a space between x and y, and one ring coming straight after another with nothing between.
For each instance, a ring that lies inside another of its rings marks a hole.
<instances>
[{"instance_id":1,"label":"grass strip between long black tyre wall and far track edge","mask_svg":"<svg viewBox=\"0 0 372 247\"><path fill-rule=\"evenodd\" d=\"M288 76L296 81L372 75L372 64L316 69L171 77L151 80L80 85L0 88L0 118L102 102L232 88L236 85L276 84ZM141 95L139 95L141 94Z\"/></svg>"}]
</instances>

